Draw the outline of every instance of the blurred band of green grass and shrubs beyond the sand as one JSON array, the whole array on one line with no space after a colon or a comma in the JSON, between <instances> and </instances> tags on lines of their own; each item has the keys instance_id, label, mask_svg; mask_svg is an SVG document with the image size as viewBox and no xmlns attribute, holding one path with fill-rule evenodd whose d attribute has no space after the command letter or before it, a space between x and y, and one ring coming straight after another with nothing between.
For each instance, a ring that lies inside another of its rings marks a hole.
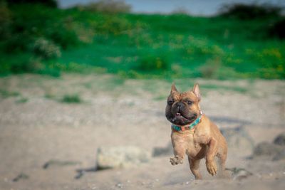
<instances>
[{"instance_id":1,"label":"blurred band of green grass and shrubs beyond the sand","mask_svg":"<svg viewBox=\"0 0 285 190\"><path fill-rule=\"evenodd\" d=\"M285 78L285 41L274 31L282 22L284 28L278 14L240 19L96 10L0 1L0 74Z\"/></svg>"}]
</instances>

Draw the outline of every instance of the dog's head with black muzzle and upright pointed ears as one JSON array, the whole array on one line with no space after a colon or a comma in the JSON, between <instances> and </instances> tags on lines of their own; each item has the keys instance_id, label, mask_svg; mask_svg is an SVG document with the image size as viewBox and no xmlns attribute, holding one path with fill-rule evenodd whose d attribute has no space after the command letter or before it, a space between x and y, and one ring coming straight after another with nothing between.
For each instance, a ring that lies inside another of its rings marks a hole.
<instances>
[{"instance_id":1,"label":"dog's head with black muzzle and upright pointed ears","mask_svg":"<svg viewBox=\"0 0 285 190\"><path fill-rule=\"evenodd\" d=\"M199 117L199 86L196 84L193 90L180 93L173 84L170 95L167 97L165 116L175 125L189 125Z\"/></svg>"}]
</instances>

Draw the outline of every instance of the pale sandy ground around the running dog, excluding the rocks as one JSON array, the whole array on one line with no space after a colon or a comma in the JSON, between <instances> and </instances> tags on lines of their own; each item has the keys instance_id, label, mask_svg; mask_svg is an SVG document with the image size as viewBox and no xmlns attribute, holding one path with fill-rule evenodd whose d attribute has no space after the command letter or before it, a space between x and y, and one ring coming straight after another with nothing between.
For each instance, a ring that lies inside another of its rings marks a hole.
<instances>
[{"instance_id":1,"label":"pale sandy ground around the running dog, excluding the rocks","mask_svg":"<svg viewBox=\"0 0 285 190\"><path fill-rule=\"evenodd\" d=\"M201 85L202 110L219 127L243 126L255 144L271 142L285 131L284 81L185 79L177 81L177 88L194 82ZM247 159L234 150L229 150L227 167L247 169L252 176L212 177L201 162L204 179L196 181L186 160L173 167L168 156L135 168L94 171L101 145L133 145L152 152L170 142L170 123L164 116L170 82L112 75L16 75L0 78L0 90L0 189L285 187L284 160ZM74 94L83 102L61 102L64 95ZM74 163L43 169L50 160ZM80 179L78 169L87 169Z\"/></svg>"}]
</instances>

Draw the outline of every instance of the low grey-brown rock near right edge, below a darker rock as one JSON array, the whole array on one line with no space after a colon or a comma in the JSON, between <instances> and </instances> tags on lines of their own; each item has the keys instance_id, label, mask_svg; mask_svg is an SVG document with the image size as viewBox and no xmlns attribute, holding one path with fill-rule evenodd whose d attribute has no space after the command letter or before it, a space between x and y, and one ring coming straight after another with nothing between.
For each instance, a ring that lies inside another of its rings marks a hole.
<instances>
[{"instance_id":1,"label":"low grey-brown rock near right edge, below a darker rock","mask_svg":"<svg viewBox=\"0 0 285 190\"><path fill-rule=\"evenodd\" d=\"M254 157L258 156L274 156L282 151L282 147L270 142L261 142L254 147Z\"/></svg>"}]
</instances>

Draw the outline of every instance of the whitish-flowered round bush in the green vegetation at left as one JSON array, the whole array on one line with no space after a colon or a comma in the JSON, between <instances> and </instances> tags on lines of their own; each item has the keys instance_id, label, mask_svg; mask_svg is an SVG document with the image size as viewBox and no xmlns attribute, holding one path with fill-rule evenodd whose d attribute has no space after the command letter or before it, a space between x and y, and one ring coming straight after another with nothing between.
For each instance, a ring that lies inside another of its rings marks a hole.
<instances>
[{"instance_id":1,"label":"whitish-flowered round bush in the green vegetation at left","mask_svg":"<svg viewBox=\"0 0 285 190\"><path fill-rule=\"evenodd\" d=\"M38 38L33 45L33 53L47 60L50 58L59 58L61 56L61 49L45 38Z\"/></svg>"}]
</instances>

